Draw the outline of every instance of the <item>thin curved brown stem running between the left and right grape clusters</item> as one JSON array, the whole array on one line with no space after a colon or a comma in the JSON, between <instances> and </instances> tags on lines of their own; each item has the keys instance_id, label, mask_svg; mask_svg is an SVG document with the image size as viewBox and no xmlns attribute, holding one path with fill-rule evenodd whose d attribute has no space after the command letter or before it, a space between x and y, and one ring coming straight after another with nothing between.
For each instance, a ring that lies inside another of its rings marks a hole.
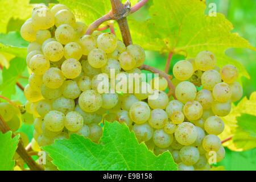
<instances>
[{"instance_id":1,"label":"thin curved brown stem running between the left and right grape clusters","mask_svg":"<svg viewBox=\"0 0 256 182\"><path fill-rule=\"evenodd\" d=\"M150 71L152 73L158 73L159 76L166 78L166 80L168 82L168 88L169 88L169 92L167 93L167 95L168 95L168 97L174 96L174 98L177 100L177 98L175 96L175 86L174 86L174 84L172 84L172 81L170 80L170 77L167 73L165 73L159 69L156 69L154 67L151 67L150 65L146 65L146 64L141 65L141 67L139 67L139 69L144 69L144 70Z\"/></svg>"}]
</instances>

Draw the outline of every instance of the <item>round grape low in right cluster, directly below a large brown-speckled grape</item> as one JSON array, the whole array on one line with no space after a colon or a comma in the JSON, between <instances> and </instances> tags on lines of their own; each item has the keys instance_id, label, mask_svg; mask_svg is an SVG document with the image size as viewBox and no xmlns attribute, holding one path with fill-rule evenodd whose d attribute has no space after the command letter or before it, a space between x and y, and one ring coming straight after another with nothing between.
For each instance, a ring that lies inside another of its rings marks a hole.
<instances>
[{"instance_id":1,"label":"round grape low in right cluster, directly below a large brown-speckled grape","mask_svg":"<svg viewBox=\"0 0 256 182\"><path fill-rule=\"evenodd\" d=\"M199 160L199 151L196 147L184 146L180 149L180 159L183 164L192 166Z\"/></svg>"}]
</instances>

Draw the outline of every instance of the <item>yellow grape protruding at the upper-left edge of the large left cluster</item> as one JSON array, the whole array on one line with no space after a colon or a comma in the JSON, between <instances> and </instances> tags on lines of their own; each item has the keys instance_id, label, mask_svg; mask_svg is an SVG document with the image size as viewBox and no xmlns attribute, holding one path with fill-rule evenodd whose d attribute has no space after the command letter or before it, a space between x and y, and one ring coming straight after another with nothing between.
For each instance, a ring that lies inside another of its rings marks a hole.
<instances>
[{"instance_id":1,"label":"yellow grape protruding at the upper-left edge of the large left cluster","mask_svg":"<svg viewBox=\"0 0 256 182\"><path fill-rule=\"evenodd\" d=\"M33 42L36 40L36 27L32 22L25 22L20 28L20 35L24 40Z\"/></svg>"}]
</instances>

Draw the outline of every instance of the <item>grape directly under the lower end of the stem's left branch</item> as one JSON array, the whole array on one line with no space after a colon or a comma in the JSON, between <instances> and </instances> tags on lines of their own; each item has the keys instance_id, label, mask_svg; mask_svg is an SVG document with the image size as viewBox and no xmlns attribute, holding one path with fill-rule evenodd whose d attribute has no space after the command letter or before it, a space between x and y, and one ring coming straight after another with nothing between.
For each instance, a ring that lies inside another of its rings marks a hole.
<instances>
[{"instance_id":1,"label":"grape directly under the lower end of the stem's left branch","mask_svg":"<svg viewBox=\"0 0 256 182\"><path fill-rule=\"evenodd\" d=\"M83 55L89 55L90 51L96 48L96 41L92 35L84 35L78 42L82 48Z\"/></svg>"}]
</instances>

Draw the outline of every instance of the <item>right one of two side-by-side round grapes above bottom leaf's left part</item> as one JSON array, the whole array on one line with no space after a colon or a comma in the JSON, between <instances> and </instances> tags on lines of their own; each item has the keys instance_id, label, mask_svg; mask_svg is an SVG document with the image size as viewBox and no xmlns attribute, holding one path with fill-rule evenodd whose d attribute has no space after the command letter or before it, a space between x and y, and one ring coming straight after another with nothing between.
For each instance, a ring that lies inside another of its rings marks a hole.
<instances>
[{"instance_id":1,"label":"right one of two side-by-side round grapes above bottom leaf's left part","mask_svg":"<svg viewBox=\"0 0 256 182\"><path fill-rule=\"evenodd\" d=\"M65 127L69 131L78 131L84 126L84 119L77 111L71 111L65 116Z\"/></svg>"}]
</instances>

